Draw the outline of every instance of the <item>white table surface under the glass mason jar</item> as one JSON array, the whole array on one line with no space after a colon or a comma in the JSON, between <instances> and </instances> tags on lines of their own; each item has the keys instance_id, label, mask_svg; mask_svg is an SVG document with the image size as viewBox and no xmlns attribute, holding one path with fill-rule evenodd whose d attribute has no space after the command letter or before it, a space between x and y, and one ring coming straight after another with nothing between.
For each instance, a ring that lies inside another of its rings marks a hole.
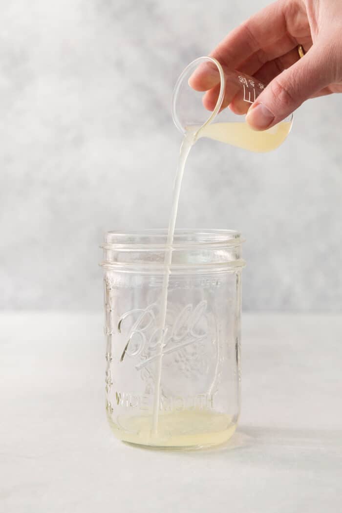
<instances>
[{"instance_id":1,"label":"white table surface under the glass mason jar","mask_svg":"<svg viewBox=\"0 0 342 513\"><path fill-rule=\"evenodd\" d=\"M342 315L244 314L224 447L139 449L105 418L102 314L0 315L0 511L342 510Z\"/></svg>"}]
</instances>

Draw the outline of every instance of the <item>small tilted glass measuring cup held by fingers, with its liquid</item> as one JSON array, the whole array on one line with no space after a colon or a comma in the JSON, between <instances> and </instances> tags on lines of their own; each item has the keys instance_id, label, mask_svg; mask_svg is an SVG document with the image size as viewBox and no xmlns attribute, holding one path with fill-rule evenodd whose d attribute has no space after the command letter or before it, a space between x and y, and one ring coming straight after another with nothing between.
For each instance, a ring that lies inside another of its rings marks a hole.
<instances>
[{"instance_id":1,"label":"small tilted glass measuring cup held by fingers, with its liquid","mask_svg":"<svg viewBox=\"0 0 342 513\"><path fill-rule=\"evenodd\" d=\"M189 80L200 71L217 74L219 84L205 93L195 91ZM268 130L250 128L245 114L264 89L265 85L254 77L229 70L213 57L199 57L177 80L172 97L173 121L183 134L195 131L196 139L209 137L250 151L271 151L288 136L293 114Z\"/></svg>"}]
</instances>

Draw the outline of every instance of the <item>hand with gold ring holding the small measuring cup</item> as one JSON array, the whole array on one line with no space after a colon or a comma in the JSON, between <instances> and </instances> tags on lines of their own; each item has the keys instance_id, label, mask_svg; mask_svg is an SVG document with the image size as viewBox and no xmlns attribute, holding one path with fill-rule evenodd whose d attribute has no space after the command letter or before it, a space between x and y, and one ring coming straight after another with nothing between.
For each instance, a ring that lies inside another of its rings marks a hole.
<instances>
[{"instance_id":1,"label":"hand with gold ring holding the small measuring cup","mask_svg":"<svg viewBox=\"0 0 342 513\"><path fill-rule=\"evenodd\" d=\"M306 52L300 60L298 45ZM230 32L210 55L268 84L246 120L255 130L270 128L308 98L342 92L342 0L278 0ZM218 73L199 68L190 85L207 91L204 104L212 110Z\"/></svg>"}]
</instances>

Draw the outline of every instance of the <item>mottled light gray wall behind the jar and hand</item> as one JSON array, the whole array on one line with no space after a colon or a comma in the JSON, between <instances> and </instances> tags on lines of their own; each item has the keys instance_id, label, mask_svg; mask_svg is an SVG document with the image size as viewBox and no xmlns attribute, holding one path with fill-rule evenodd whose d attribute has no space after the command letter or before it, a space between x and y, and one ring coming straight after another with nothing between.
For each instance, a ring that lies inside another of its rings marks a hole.
<instances>
[{"instance_id":1,"label":"mottled light gray wall behind the jar and hand","mask_svg":"<svg viewBox=\"0 0 342 513\"><path fill-rule=\"evenodd\" d=\"M266 1L0 1L2 308L98 309L107 229L167 225L177 75ZM178 226L247 243L244 306L342 308L342 96L277 151L200 141Z\"/></svg>"}]
</instances>

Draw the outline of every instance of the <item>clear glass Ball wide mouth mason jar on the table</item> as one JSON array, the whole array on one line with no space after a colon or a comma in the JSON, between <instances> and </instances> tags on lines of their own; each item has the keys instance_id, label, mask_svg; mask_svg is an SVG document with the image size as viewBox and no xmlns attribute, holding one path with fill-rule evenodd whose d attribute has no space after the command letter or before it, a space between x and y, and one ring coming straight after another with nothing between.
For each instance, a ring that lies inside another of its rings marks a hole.
<instances>
[{"instance_id":1,"label":"clear glass Ball wide mouth mason jar on the table","mask_svg":"<svg viewBox=\"0 0 342 513\"><path fill-rule=\"evenodd\" d=\"M231 230L176 230L168 271L166 240L166 230L105 236L108 421L134 444L223 443L240 410L243 241Z\"/></svg>"}]
</instances>

